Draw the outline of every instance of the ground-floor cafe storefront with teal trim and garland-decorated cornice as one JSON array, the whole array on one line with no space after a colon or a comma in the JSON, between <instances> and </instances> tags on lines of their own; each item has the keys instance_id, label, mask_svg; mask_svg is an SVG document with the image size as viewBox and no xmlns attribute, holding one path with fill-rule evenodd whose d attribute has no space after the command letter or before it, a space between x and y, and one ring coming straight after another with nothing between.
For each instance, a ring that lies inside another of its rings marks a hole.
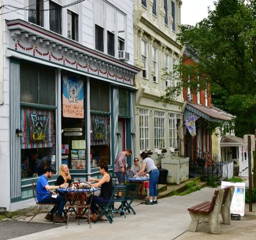
<instances>
[{"instance_id":1,"label":"ground-floor cafe storefront with teal trim and garland-decorated cornice","mask_svg":"<svg viewBox=\"0 0 256 240\"><path fill-rule=\"evenodd\" d=\"M99 175L99 163L113 173L118 152L134 150L133 77L139 69L26 20L3 24L1 109L8 124L1 131L6 141L0 172L10 186L0 208L13 211L33 203L31 179L45 166L58 170L65 163L75 180L87 180Z\"/></svg>"}]
</instances>

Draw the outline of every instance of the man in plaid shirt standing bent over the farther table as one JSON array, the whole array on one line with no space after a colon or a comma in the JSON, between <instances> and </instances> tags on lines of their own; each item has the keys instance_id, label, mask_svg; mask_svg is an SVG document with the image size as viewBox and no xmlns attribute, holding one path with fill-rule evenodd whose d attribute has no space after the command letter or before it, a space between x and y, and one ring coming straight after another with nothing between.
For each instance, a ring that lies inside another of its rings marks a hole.
<instances>
[{"instance_id":1,"label":"man in plaid shirt standing bent over the farther table","mask_svg":"<svg viewBox=\"0 0 256 240\"><path fill-rule=\"evenodd\" d=\"M125 167L126 167L125 157L129 157L131 155L132 155L132 150L127 149L124 152L120 152L116 156L114 172L116 174L119 184L124 184L124 173L125 173Z\"/></svg>"}]
</instances>

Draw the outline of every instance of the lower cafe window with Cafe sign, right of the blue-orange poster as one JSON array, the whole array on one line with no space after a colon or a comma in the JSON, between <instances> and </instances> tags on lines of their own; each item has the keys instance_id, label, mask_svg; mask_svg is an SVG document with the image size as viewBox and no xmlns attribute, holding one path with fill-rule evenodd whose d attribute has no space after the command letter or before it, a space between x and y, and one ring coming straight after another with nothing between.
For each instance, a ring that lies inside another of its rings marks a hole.
<instances>
[{"instance_id":1,"label":"lower cafe window with Cafe sign, right of the blue-orange poster","mask_svg":"<svg viewBox=\"0 0 256 240\"><path fill-rule=\"evenodd\" d=\"M91 168L100 163L110 164L110 132L109 115L91 115Z\"/></svg>"}]
</instances>

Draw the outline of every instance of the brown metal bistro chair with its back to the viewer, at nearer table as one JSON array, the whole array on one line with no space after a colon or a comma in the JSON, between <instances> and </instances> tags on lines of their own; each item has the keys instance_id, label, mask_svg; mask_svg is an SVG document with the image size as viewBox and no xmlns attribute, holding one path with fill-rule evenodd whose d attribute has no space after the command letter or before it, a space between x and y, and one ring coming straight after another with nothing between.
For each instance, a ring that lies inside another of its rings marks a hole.
<instances>
[{"instance_id":1,"label":"brown metal bistro chair with its back to the viewer, at nearer table","mask_svg":"<svg viewBox=\"0 0 256 240\"><path fill-rule=\"evenodd\" d=\"M66 228L68 227L68 221L71 216L75 216L78 219L78 225L80 225L80 218L86 216L91 228L90 206L93 195L94 191L92 190L92 186L87 182L86 185L81 186L77 184L76 187L69 186L65 190L65 197L67 200L65 205L65 212L67 217Z\"/></svg>"}]
</instances>

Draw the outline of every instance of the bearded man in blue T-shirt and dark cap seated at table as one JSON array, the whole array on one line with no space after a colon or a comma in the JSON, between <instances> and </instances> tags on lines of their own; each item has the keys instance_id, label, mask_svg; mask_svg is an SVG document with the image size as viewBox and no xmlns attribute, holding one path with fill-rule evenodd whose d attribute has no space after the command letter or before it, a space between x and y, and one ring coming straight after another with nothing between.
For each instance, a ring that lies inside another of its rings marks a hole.
<instances>
[{"instance_id":1,"label":"bearded man in blue T-shirt and dark cap seated at table","mask_svg":"<svg viewBox=\"0 0 256 240\"><path fill-rule=\"evenodd\" d=\"M60 186L49 186L47 179L51 179L54 173L56 173L56 170L51 166L44 169L44 174L41 175L36 183L36 198L38 202L42 204L57 204L55 221L56 223L66 223L66 220L62 217L62 212L66 204L65 196L57 195L57 193L52 190L67 188L68 183L63 183ZM54 211L55 207L52 208L51 212L47 213L45 219L53 221Z\"/></svg>"}]
</instances>

